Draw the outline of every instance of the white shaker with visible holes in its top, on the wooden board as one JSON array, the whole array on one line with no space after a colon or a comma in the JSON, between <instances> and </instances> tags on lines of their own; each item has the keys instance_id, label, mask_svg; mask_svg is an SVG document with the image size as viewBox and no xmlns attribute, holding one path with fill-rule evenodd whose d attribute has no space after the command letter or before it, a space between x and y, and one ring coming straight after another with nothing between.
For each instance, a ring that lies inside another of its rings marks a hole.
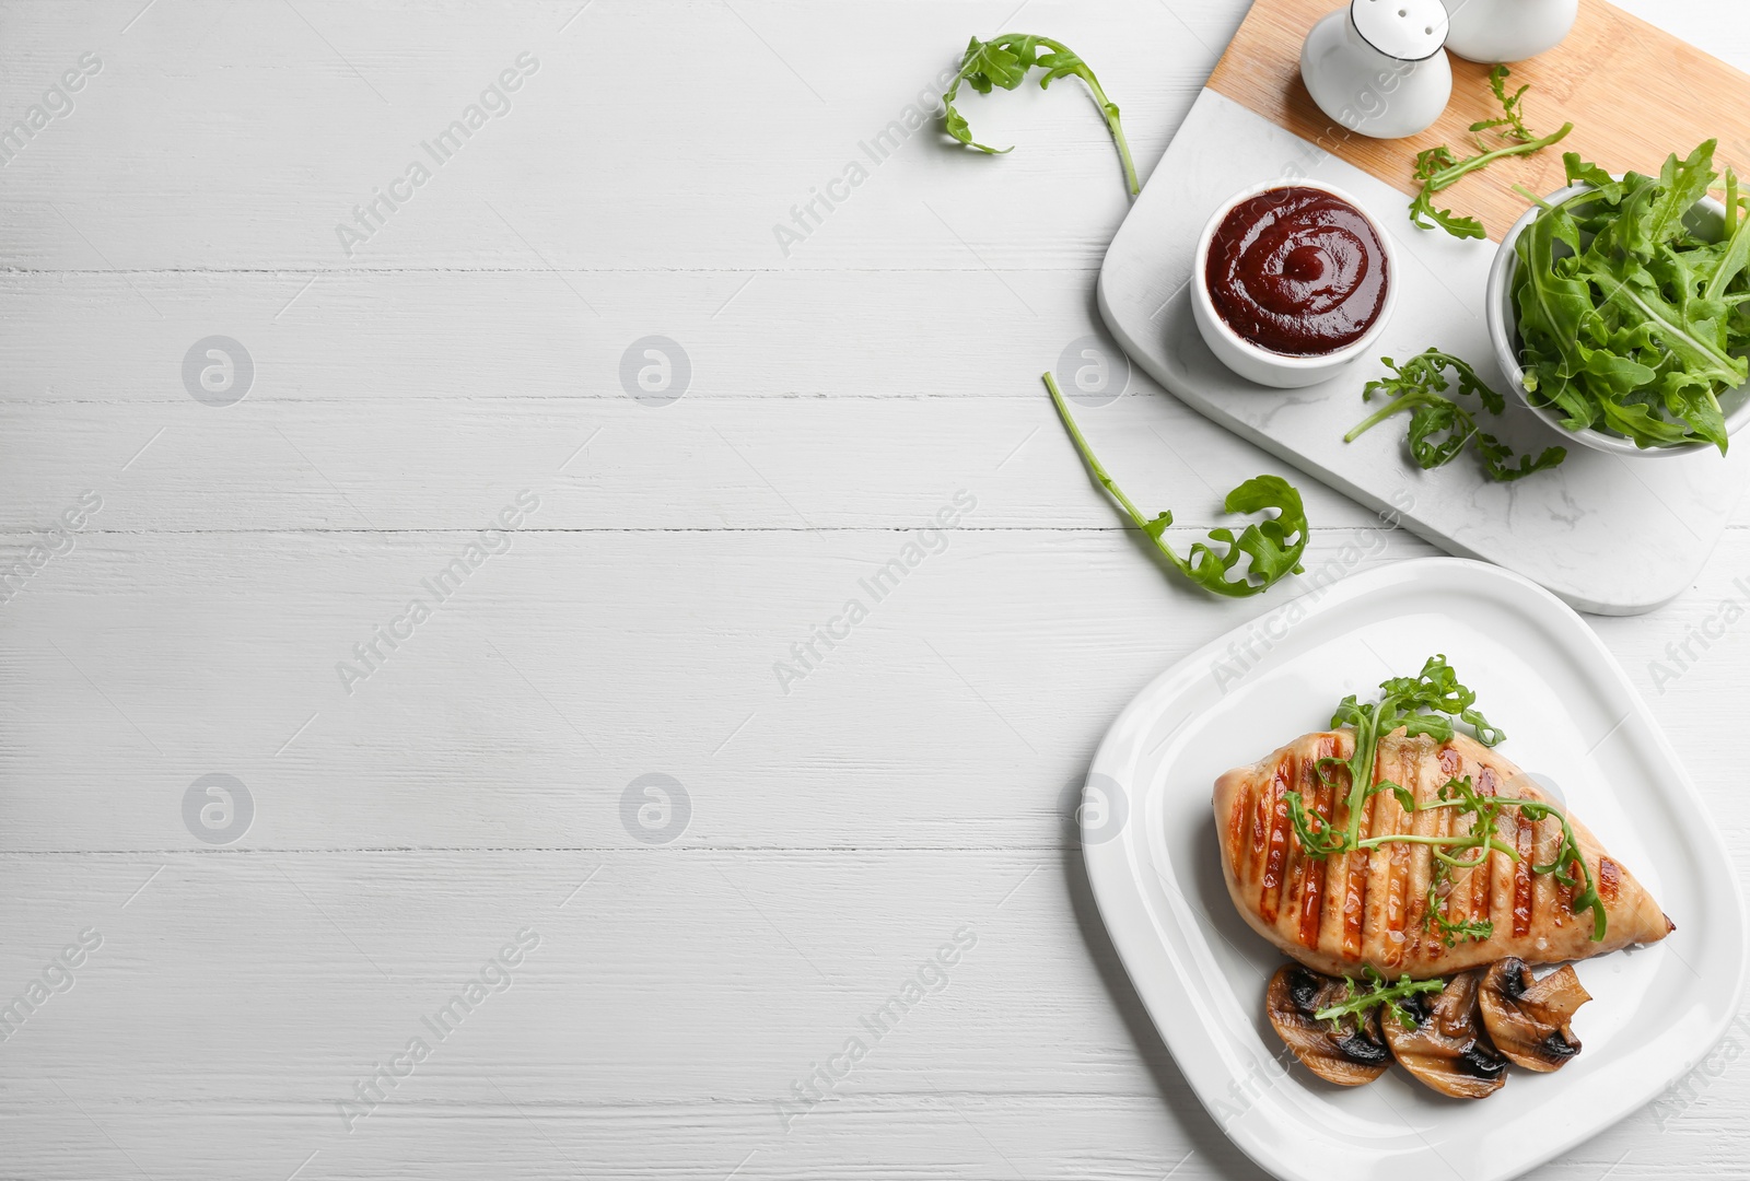
<instances>
[{"instance_id":1,"label":"white shaker with visible holes in its top, on the wooden board","mask_svg":"<svg viewBox=\"0 0 1750 1181\"><path fill-rule=\"evenodd\" d=\"M1307 33L1300 77L1320 110L1349 131L1376 140L1416 135L1452 96L1446 35L1440 0L1351 0Z\"/></svg>"}]
</instances>

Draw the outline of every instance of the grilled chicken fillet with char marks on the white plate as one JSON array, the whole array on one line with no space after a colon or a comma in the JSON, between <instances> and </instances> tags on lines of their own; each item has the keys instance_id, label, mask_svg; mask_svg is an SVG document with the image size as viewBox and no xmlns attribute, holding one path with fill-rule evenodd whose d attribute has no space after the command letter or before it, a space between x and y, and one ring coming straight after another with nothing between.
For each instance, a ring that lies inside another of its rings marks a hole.
<instances>
[{"instance_id":1,"label":"grilled chicken fillet with char marks on the white plate","mask_svg":"<svg viewBox=\"0 0 1750 1181\"><path fill-rule=\"evenodd\" d=\"M1526 964L1554 964L1601 955L1631 943L1654 943L1675 926L1634 877L1614 861L1572 814L1580 854L1605 903L1608 931L1592 940L1592 913L1573 913L1572 887L1554 873L1533 873L1549 864L1561 845L1561 822L1531 822L1517 808L1502 808L1496 829L1517 849L1519 861L1491 852L1475 870L1452 870L1437 898L1449 922L1488 919L1488 940L1458 940L1446 947L1438 924L1428 919L1428 882L1433 854L1428 845L1396 842L1332 857L1306 856L1288 821L1284 793L1300 791L1309 812L1335 828L1349 822L1348 791L1321 784L1321 758L1348 759L1354 733L1311 733L1255 766L1222 775L1214 784L1214 821L1222 842L1222 873L1246 922L1265 940L1314 971L1354 975L1370 964L1390 976L1447 976L1466 968L1516 955ZM1470 777L1477 794L1549 800L1517 766L1474 738L1451 742L1405 738L1402 731L1379 740L1374 779L1402 784L1426 805L1449 779ZM1346 784L1339 772L1337 779ZM1382 791L1368 800L1362 836L1419 833L1446 836L1468 831L1470 815L1456 808L1405 814L1398 798ZM1561 807L1561 805L1558 805ZM1475 850L1461 856L1474 857Z\"/></svg>"}]
</instances>

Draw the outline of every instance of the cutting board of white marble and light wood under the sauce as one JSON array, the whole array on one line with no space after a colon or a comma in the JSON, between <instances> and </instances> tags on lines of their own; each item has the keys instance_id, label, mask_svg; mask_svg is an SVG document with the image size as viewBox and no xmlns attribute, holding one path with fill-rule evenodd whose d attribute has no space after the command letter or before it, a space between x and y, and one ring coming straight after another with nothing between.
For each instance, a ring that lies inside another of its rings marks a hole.
<instances>
[{"instance_id":1,"label":"cutting board of white marble and light wood under the sauce","mask_svg":"<svg viewBox=\"0 0 1750 1181\"><path fill-rule=\"evenodd\" d=\"M1362 385L1384 373L1377 357L1404 359L1433 345L1466 357L1498 390L1508 385L1482 317L1496 241L1416 229L1407 210L1416 152L1449 143L1470 154L1466 128L1496 112L1488 68L1452 59L1451 105L1423 135L1353 135L1334 126L1300 82L1306 33L1335 7L1253 3L1106 252L1101 315L1138 366L1186 406L1377 509L1377 535L1362 537L1358 555L1390 544L1402 523L1449 553L1517 570L1582 611L1633 614L1670 602L1694 583L1738 504L1750 478L1750 436L1726 458L1624 458L1578 446L1508 395L1491 432L1517 450L1568 448L1561 467L1512 485L1488 481L1468 455L1421 471L1407 455L1404 418L1342 441L1370 409ZM1717 161L1750 164L1750 77L1601 0L1582 0L1559 47L1512 68L1516 86L1531 82L1524 101L1533 129L1564 121L1575 129L1556 149L1496 163L1440 194L1442 208L1479 215L1494 240L1528 208L1512 185L1561 187L1561 150L1570 147L1610 170L1648 171L1673 150L1718 138ZM1197 334L1192 254L1228 196L1295 177L1339 185L1391 234L1402 262L1398 306L1374 359L1316 387L1272 390L1230 373ZM1097 413L1087 411L1082 423L1096 448ZM1309 570L1290 586L1321 593L1360 562Z\"/></svg>"}]
</instances>

